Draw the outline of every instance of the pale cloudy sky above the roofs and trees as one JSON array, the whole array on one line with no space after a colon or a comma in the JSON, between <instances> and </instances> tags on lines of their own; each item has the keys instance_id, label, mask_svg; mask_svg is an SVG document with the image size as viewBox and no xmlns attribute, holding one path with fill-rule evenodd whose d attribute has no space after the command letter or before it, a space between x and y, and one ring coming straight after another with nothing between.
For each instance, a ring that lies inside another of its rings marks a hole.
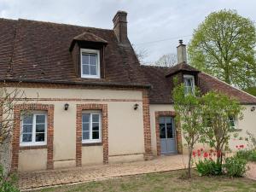
<instances>
[{"instance_id":1,"label":"pale cloudy sky above the roofs and trees","mask_svg":"<svg viewBox=\"0 0 256 192\"><path fill-rule=\"evenodd\" d=\"M0 0L0 17L113 28L118 10L128 13L128 37L152 63L189 44L195 28L213 11L236 9L256 20L256 0ZM0 29L1 30L1 29Z\"/></svg>"}]
</instances>

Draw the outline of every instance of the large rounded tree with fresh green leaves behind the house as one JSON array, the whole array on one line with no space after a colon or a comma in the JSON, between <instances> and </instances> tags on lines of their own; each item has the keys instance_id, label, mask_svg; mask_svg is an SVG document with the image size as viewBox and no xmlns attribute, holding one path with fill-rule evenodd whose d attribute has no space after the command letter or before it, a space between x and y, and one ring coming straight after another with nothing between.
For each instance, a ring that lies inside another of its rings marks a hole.
<instances>
[{"instance_id":1,"label":"large rounded tree with fresh green leaves behind the house","mask_svg":"<svg viewBox=\"0 0 256 192\"><path fill-rule=\"evenodd\" d=\"M255 86L256 32L253 21L235 10L208 15L189 43L191 65L241 89Z\"/></svg>"}]
</instances>

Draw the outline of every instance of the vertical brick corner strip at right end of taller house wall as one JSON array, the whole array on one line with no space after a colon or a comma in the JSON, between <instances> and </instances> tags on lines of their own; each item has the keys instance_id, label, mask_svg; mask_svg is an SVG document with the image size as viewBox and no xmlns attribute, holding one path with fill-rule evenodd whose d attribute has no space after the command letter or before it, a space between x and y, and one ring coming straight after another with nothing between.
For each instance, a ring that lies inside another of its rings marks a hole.
<instances>
[{"instance_id":1,"label":"vertical brick corner strip at right end of taller house wall","mask_svg":"<svg viewBox=\"0 0 256 192\"><path fill-rule=\"evenodd\" d=\"M148 90L143 90L143 130L145 148L144 159L149 160L152 157L152 148Z\"/></svg>"}]
</instances>

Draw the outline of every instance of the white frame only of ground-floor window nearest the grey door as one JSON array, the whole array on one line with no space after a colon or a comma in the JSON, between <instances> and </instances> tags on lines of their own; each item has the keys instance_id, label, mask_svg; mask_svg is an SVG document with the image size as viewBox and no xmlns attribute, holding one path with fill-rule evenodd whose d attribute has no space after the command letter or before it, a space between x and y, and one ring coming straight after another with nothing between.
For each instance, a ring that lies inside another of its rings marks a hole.
<instances>
[{"instance_id":1,"label":"white frame only of ground-floor window nearest the grey door","mask_svg":"<svg viewBox=\"0 0 256 192\"><path fill-rule=\"evenodd\" d=\"M90 114L90 139L83 139L83 114ZM99 115L99 139L92 139L92 114ZM101 111L83 111L82 112L82 143L102 143L102 112Z\"/></svg>"}]
</instances>

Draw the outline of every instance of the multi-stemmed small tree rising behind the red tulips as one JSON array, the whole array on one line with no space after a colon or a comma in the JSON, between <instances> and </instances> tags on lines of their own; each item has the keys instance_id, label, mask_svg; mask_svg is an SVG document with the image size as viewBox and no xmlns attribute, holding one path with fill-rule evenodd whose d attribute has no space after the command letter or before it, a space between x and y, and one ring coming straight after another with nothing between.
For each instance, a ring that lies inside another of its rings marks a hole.
<instances>
[{"instance_id":1,"label":"multi-stemmed small tree rising behind the red tulips","mask_svg":"<svg viewBox=\"0 0 256 192\"><path fill-rule=\"evenodd\" d=\"M242 119L242 107L236 99L214 91L202 96L202 106L204 128L201 143L207 143L216 149L217 162L221 165L224 149L229 147L234 131L230 118Z\"/></svg>"}]
</instances>

